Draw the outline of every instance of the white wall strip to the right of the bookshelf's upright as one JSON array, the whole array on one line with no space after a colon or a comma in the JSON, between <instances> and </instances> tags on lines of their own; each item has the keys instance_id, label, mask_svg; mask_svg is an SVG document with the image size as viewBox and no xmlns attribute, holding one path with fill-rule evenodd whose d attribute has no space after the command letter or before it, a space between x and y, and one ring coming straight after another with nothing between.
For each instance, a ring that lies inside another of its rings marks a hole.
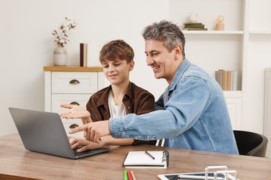
<instances>
[{"instance_id":1,"label":"white wall strip to the right of the bookshelf's upright","mask_svg":"<svg viewBox=\"0 0 271 180\"><path fill-rule=\"evenodd\" d=\"M251 0L249 30L271 31L271 1ZM265 68L271 67L271 34L250 34L248 55L247 116L243 127L263 133ZM271 129L270 129L271 130Z\"/></svg>"}]
</instances>

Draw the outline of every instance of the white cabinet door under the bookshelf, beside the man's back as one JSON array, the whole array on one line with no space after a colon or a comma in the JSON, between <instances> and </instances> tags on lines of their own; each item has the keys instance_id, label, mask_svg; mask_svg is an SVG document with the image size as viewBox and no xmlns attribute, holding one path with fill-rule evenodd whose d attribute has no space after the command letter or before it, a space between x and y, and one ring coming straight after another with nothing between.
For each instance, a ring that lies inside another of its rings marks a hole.
<instances>
[{"instance_id":1,"label":"white cabinet door under the bookshelf, beside the man's back","mask_svg":"<svg viewBox=\"0 0 271 180\"><path fill-rule=\"evenodd\" d=\"M241 129L242 125L242 98L226 98L231 126L233 129Z\"/></svg>"}]
</instances>

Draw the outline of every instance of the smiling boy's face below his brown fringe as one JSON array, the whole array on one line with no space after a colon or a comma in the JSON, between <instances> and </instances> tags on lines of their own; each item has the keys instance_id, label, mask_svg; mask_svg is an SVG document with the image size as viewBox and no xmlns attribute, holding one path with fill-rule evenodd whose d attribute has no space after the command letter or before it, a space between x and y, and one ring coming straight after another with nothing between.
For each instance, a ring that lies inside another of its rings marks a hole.
<instances>
[{"instance_id":1,"label":"smiling boy's face below his brown fringe","mask_svg":"<svg viewBox=\"0 0 271 180\"><path fill-rule=\"evenodd\" d=\"M113 85L121 85L123 83L129 82L129 72L133 70L135 62L131 61L127 63L126 60L115 60L108 61L105 60L101 63L104 69L104 75Z\"/></svg>"}]
</instances>

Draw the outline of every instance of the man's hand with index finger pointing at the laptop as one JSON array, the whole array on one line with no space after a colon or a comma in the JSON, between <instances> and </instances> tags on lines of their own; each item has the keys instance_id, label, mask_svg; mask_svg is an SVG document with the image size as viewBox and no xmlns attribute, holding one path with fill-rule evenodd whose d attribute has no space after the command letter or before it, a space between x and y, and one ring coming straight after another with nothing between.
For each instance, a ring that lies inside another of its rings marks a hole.
<instances>
[{"instance_id":1,"label":"man's hand with index finger pointing at the laptop","mask_svg":"<svg viewBox=\"0 0 271 180\"><path fill-rule=\"evenodd\" d=\"M81 125L69 131L70 134L85 132L85 139L95 143L101 142L101 137L110 135L109 120L101 120L95 123Z\"/></svg>"}]
</instances>

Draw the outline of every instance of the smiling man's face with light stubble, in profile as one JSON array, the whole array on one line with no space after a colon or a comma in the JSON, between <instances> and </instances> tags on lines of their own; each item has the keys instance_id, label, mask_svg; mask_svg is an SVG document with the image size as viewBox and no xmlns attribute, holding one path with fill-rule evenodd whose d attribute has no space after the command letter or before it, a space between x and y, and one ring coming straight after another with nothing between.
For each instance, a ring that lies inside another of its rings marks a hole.
<instances>
[{"instance_id":1,"label":"smiling man's face with light stubble, in profile","mask_svg":"<svg viewBox=\"0 0 271 180\"><path fill-rule=\"evenodd\" d=\"M174 51L169 52L162 42L149 39L145 42L145 53L147 56L147 65L151 66L156 79L165 78L170 84L174 78L176 69L172 69L176 60Z\"/></svg>"}]
</instances>

